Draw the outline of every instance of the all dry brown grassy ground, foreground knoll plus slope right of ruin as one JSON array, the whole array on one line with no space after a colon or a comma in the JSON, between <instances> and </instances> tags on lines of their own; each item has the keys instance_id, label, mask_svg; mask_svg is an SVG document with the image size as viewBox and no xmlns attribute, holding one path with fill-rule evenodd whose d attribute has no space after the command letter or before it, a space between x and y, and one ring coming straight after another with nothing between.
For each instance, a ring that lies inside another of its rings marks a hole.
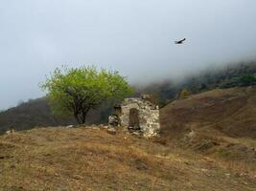
<instances>
[{"instance_id":1,"label":"all dry brown grassy ground, foreground knoll plus slope right of ruin","mask_svg":"<svg viewBox=\"0 0 256 191\"><path fill-rule=\"evenodd\" d=\"M0 190L234 190L256 187L256 87L216 89L160 110L161 137L105 126L0 136Z\"/></svg>"}]
</instances>

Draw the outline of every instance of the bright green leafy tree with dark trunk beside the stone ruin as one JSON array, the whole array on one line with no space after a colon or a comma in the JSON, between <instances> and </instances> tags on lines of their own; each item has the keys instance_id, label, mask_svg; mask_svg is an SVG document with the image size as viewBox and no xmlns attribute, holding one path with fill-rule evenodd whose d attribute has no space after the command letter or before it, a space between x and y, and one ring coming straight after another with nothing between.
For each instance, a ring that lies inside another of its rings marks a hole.
<instances>
[{"instance_id":1,"label":"bright green leafy tree with dark trunk beside the stone ruin","mask_svg":"<svg viewBox=\"0 0 256 191\"><path fill-rule=\"evenodd\" d=\"M41 88L47 92L54 114L73 115L80 124L85 123L90 109L99 107L107 99L121 101L133 92L118 72L95 67L57 68Z\"/></svg>"}]
</instances>

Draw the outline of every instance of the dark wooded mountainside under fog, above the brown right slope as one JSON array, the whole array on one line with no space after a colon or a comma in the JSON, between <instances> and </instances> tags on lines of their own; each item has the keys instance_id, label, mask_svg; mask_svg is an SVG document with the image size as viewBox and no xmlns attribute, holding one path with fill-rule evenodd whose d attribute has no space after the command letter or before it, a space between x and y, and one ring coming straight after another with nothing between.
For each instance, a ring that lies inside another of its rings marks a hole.
<instances>
[{"instance_id":1,"label":"dark wooded mountainside under fog, above the brown right slope","mask_svg":"<svg viewBox=\"0 0 256 191\"><path fill-rule=\"evenodd\" d=\"M216 88L244 87L256 84L256 61L224 65L198 74L184 76L179 82L165 80L140 88L139 92L155 96L161 107L179 97L184 88L198 94Z\"/></svg>"}]
</instances>

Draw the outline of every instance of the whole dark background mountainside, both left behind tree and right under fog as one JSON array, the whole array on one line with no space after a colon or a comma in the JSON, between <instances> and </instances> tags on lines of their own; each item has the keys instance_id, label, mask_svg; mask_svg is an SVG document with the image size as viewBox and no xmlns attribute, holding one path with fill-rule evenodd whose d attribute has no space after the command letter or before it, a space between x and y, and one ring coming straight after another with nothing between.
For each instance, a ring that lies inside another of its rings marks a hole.
<instances>
[{"instance_id":1,"label":"whole dark background mountainside, both left behind tree and right under fog","mask_svg":"<svg viewBox=\"0 0 256 191\"><path fill-rule=\"evenodd\" d=\"M216 88L250 86L256 83L256 62L240 63L225 66L222 69L208 70L201 74L187 76L182 82L173 83L166 80L150 84L147 87L135 87L136 94L150 94L153 101L163 107L179 98L180 92L186 87L190 94L198 94ZM105 103L98 110L91 111L87 124L106 123L111 114L111 104ZM0 113L0 133L9 129L24 130L40 126L58 126L76 124L73 117L55 117L45 97L19 104Z\"/></svg>"}]
</instances>

